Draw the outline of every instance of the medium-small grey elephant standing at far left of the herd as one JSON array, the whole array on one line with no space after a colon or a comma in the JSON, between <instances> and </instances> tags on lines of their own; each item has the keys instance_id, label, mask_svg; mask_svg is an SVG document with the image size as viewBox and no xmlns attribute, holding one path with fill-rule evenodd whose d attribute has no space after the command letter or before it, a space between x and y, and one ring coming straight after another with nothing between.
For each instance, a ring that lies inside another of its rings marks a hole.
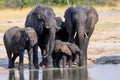
<instances>
[{"instance_id":1,"label":"medium-small grey elephant standing at far left of the herd","mask_svg":"<svg viewBox=\"0 0 120 80\"><path fill-rule=\"evenodd\" d=\"M25 49L28 51L29 68L39 68L37 34L33 28L12 27L5 32L3 41L9 60L8 68L14 67L14 62L19 56L18 69L23 69Z\"/></svg>"}]
</instances>

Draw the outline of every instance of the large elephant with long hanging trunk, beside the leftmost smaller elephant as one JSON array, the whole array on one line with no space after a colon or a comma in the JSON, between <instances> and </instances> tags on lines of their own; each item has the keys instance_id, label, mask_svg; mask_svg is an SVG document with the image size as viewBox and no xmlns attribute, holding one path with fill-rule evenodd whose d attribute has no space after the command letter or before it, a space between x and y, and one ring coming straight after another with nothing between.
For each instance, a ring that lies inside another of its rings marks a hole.
<instances>
[{"instance_id":1,"label":"large elephant with long hanging trunk, beside the leftmost smaller elephant","mask_svg":"<svg viewBox=\"0 0 120 80\"><path fill-rule=\"evenodd\" d=\"M43 56L41 65L52 67L51 54L57 28L54 11L49 7L36 6L27 15L25 27L29 26L33 27L38 35L38 46Z\"/></svg>"}]
</instances>

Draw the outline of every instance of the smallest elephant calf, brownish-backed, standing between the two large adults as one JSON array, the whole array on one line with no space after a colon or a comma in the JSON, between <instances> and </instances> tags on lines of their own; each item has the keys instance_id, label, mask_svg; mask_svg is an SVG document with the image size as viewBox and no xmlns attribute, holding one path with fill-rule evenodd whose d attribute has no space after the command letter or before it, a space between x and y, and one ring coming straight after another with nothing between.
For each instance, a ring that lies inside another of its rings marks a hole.
<instances>
[{"instance_id":1,"label":"smallest elephant calf, brownish-backed, standing between the two large adults","mask_svg":"<svg viewBox=\"0 0 120 80\"><path fill-rule=\"evenodd\" d=\"M52 54L54 67L60 68L60 60L62 59L63 68L66 67L66 61L69 62L69 67L72 66L72 59L79 61L81 50L74 43L63 42L61 40L55 41L55 49Z\"/></svg>"}]
</instances>

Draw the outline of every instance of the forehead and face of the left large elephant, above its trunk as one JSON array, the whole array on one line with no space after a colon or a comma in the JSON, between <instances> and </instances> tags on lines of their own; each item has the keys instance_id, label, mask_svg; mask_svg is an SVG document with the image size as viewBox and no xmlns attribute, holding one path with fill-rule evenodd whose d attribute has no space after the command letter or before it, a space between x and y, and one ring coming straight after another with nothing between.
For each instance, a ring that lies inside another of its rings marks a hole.
<instances>
[{"instance_id":1,"label":"forehead and face of the left large elephant, above its trunk","mask_svg":"<svg viewBox=\"0 0 120 80\"><path fill-rule=\"evenodd\" d=\"M49 7L37 6L33 14L37 16L37 19L44 28L57 28L53 9Z\"/></svg>"}]
</instances>

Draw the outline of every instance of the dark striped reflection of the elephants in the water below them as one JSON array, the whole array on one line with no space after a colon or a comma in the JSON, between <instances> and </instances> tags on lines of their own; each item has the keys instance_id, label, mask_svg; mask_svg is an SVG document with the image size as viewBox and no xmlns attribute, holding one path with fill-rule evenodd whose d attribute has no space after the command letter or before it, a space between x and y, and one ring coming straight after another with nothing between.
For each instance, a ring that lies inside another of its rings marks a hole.
<instances>
[{"instance_id":1,"label":"dark striped reflection of the elephants in the water below them","mask_svg":"<svg viewBox=\"0 0 120 80\"><path fill-rule=\"evenodd\" d=\"M87 68L10 70L8 80L87 80Z\"/></svg>"}]
</instances>

